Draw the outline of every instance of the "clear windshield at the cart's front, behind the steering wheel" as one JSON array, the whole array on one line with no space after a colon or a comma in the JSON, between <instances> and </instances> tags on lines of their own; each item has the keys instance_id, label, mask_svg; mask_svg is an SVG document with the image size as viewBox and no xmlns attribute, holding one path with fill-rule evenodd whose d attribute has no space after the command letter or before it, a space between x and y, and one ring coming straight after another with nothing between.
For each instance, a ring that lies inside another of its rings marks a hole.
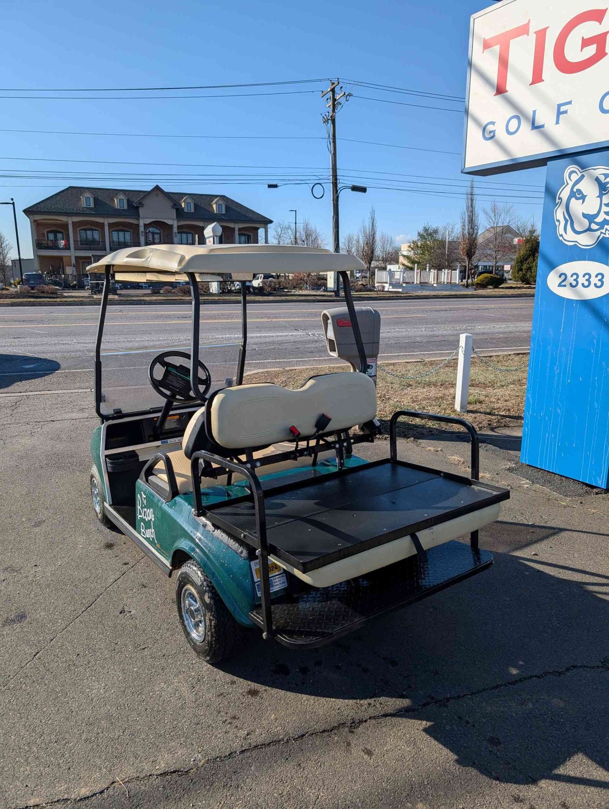
<instances>
[{"instance_id":1,"label":"clear windshield at the cart's front, behind the steering wheel","mask_svg":"<svg viewBox=\"0 0 609 809\"><path fill-rule=\"evenodd\" d=\"M181 303L108 306L101 346L101 413L110 416L163 407L165 400L150 384L150 363L170 349L190 354L190 316L190 306ZM218 318L208 314L207 320L201 319L199 359L209 369L209 392L214 392L225 388L226 379L235 376L241 319L238 312L230 318L223 316L224 328L219 333ZM189 367L190 363L177 357L174 364ZM180 404L178 401L175 406Z\"/></svg>"}]
</instances>

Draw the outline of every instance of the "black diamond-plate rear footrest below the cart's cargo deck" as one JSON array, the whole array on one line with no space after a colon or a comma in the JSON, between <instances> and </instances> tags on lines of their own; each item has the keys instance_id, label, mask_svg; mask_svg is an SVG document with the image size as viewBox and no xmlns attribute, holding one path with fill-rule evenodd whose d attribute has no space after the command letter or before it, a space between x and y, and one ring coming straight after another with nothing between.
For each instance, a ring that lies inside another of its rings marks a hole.
<instances>
[{"instance_id":1,"label":"black diamond-plate rear footrest below the cart's cargo deck","mask_svg":"<svg viewBox=\"0 0 609 809\"><path fill-rule=\"evenodd\" d=\"M417 557L321 590L273 599L273 628L287 646L321 646L357 629L368 619L433 595L481 573L493 564L488 551L463 542L447 542ZM263 626L262 609L250 613Z\"/></svg>"}]
</instances>

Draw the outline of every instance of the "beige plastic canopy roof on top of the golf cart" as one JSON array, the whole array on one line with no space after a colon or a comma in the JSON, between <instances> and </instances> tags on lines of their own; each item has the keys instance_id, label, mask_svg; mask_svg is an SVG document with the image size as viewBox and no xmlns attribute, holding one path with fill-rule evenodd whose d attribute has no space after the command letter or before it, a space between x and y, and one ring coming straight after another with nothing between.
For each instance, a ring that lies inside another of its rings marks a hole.
<instances>
[{"instance_id":1,"label":"beige plastic canopy roof on top of the golf cart","mask_svg":"<svg viewBox=\"0 0 609 809\"><path fill-rule=\"evenodd\" d=\"M356 256L325 248L284 244L154 244L110 253L87 268L103 272L112 265L117 281L186 281L196 273L199 281L251 281L258 273L332 273L365 269Z\"/></svg>"}]
</instances>

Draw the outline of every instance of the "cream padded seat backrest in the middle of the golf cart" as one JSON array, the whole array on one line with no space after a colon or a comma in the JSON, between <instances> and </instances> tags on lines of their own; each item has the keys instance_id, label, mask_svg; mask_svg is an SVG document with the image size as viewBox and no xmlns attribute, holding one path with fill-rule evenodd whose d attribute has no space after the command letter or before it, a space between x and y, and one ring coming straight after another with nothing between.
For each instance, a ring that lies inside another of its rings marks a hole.
<instances>
[{"instance_id":1,"label":"cream padded seat backrest in the middle of the golf cart","mask_svg":"<svg viewBox=\"0 0 609 809\"><path fill-rule=\"evenodd\" d=\"M325 414L323 430L316 422ZM261 383L224 388L197 410L184 433L187 457L208 446L246 450L294 440L290 426L303 439L350 430L376 416L376 387L365 374L348 371L311 377L302 388Z\"/></svg>"}]
</instances>

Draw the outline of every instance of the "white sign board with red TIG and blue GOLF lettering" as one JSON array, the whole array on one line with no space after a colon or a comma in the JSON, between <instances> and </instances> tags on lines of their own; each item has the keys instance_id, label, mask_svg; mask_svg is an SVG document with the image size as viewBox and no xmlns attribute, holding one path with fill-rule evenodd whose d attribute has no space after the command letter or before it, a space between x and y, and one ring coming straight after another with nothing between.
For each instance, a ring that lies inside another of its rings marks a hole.
<instances>
[{"instance_id":1,"label":"white sign board with red TIG and blue GOLF lettering","mask_svg":"<svg viewBox=\"0 0 609 809\"><path fill-rule=\"evenodd\" d=\"M608 40L608 0L504 0L473 15L463 172L609 146Z\"/></svg>"}]
</instances>

